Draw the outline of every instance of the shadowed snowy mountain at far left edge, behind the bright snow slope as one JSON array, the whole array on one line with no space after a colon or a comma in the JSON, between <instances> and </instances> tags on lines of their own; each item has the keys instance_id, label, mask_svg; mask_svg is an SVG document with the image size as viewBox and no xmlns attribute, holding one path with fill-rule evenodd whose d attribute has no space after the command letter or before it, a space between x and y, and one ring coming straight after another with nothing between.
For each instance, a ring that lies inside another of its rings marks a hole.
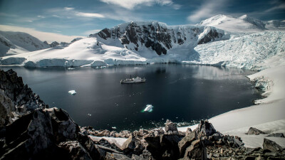
<instances>
[{"instance_id":1,"label":"shadowed snowy mountain at far left edge, behind the bright snow slope","mask_svg":"<svg viewBox=\"0 0 285 160\"><path fill-rule=\"evenodd\" d=\"M49 48L28 33L0 31L0 56L14 55Z\"/></svg>"}]
</instances>

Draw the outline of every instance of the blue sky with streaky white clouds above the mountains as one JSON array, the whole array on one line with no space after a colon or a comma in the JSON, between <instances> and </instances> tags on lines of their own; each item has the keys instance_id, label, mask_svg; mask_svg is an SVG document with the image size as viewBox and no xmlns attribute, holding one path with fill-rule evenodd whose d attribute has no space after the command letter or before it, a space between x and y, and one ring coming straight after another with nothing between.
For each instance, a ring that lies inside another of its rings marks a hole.
<instances>
[{"instance_id":1,"label":"blue sky with streaky white clouds above the mountains","mask_svg":"<svg viewBox=\"0 0 285 160\"><path fill-rule=\"evenodd\" d=\"M128 21L196 24L217 14L285 20L284 0L0 0L0 30L41 41L88 36Z\"/></svg>"}]
</instances>

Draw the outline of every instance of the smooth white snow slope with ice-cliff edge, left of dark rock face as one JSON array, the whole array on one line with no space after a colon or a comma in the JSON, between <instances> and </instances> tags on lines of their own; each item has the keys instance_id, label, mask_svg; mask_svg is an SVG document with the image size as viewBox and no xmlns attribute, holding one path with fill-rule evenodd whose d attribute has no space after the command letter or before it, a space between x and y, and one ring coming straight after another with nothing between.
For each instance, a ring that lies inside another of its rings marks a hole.
<instances>
[{"instance_id":1,"label":"smooth white snow slope with ice-cliff edge, left of dark rock face","mask_svg":"<svg viewBox=\"0 0 285 160\"><path fill-rule=\"evenodd\" d=\"M146 59L132 50L107 46L96 38L84 38L66 48L48 48L2 58L3 65L43 66L102 66L145 64Z\"/></svg>"}]
</instances>

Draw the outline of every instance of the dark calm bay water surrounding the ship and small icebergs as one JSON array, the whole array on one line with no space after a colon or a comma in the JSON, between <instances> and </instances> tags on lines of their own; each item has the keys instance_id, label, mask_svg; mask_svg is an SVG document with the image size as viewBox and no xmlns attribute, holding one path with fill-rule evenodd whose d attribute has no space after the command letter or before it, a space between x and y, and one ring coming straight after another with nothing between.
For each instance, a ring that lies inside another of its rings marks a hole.
<instances>
[{"instance_id":1,"label":"dark calm bay water surrounding the ship and small icebergs","mask_svg":"<svg viewBox=\"0 0 285 160\"><path fill-rule=\"evenodd\" d=\"M50 107L61 107L79 125L95 129L148 129L162 126L166 119L189 125L261 98L246 78L254 72L237 68L178 64L0 68L12 68ZM120 84L130 75L147 81ZM69 95L69 90L77 94ZM148 104L153 111L141 112Z\"/></svg>"}]
</instances>

